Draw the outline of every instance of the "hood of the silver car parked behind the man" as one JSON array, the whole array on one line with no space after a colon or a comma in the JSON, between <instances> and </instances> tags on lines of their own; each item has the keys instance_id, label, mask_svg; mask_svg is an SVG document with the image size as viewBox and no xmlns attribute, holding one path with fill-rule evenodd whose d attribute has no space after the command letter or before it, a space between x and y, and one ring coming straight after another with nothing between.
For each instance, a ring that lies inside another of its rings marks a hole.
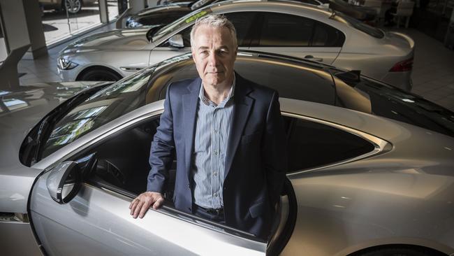
<instances>
[{"instance_id":1,"label":"hood of the silver car parked behind the man","mask_svg":"<svg viewBox=\"0 0 454 256\"><path fill-rule=\"evenodd\" d=\"M138 50L149 44L147 29L115 29L75 41L63 50L62 53L85 52L93 50Z\"/></svg>"}]
</instances>

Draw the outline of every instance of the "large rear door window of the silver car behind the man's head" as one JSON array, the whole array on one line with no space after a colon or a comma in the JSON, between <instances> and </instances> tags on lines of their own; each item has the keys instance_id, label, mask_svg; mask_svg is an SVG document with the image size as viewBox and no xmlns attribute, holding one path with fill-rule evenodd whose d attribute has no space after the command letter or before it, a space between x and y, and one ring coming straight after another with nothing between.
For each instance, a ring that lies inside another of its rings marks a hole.
<instances>
[{"instance_id":1,"label":"large rear door window of the silver car behind the man's head","mask_svg":"<svg viewBox=\"0 0 454 256\"><path fill-rule=\"evenodd\" d=\"M309 46L314 20L284 13L263 13L259 46Z\"/></svg>"}]
</instances>

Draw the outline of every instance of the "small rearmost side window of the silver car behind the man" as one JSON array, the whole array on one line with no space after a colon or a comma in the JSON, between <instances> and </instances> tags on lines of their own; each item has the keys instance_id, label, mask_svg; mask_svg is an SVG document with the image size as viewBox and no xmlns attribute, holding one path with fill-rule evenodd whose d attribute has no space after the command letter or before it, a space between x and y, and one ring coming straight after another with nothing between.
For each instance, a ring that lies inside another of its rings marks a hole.
<instances>
[{"instance_id":1,"label":"small rearmost side window of the silver car behind the man","mask_svg":"<svg viewBox=\"0 0 454 256\"><path fill-rule=\"evenodd\" d=\"M317 47L342 47L345 35L341 31L321 22L316 22L312 46Z\"/></svg>"}]
</instances>

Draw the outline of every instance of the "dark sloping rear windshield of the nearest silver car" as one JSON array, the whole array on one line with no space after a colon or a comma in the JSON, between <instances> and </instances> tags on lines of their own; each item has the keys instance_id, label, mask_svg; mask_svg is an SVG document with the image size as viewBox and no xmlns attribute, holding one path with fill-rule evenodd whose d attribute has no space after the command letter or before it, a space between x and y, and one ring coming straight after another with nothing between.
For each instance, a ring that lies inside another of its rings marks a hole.
<instances>
[{"instance_id":1,"label":"dark sloping rear windshield of the nearest silver car","mask_svg":"<svg viewBox=\"0 0 454 256\"><path fill-rule=\"evenodd\" d=\"M448 109L416 94L370 78L361 77L360 80L349 80L339 75L343 72L333 71L332 73L335 73L335 76L344 83L366 94L374 115L454 136L454 113Z\"/></svg>"}]
</instances>

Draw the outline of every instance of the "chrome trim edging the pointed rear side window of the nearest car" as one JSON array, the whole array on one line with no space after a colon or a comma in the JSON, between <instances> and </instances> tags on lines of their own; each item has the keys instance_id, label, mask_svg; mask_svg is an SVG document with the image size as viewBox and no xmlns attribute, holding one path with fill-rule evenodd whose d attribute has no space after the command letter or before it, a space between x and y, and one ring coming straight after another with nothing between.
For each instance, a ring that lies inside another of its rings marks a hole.
<instances>
[{"instance_id":1,"label":"chrome trim edging the pointed rear side window of the nearest car","mask_svg":"<svg viewBox=\"0 0 454 256\"><path fill-rule=\"evenodd\" d=\"M364 138L366 141L369 141L370 143L372 143L374 145L374 150L372 150L371 152L365 153L363 155L359 155L358 157L345 159L343 161L334 162L332 164L326 164L326 165L322 165L322 166L317 166L315 168L302 169L300 171L295 171L293 173L287 173L288 177L291 177L291 176L294 176L294 175L297 175L297 174L300 174L300 173L308 173L308 172L312 172L312 171L318 171L320 169L326 169L326 168L329 168L329 167L332 167L332 166L337 166L337 165L340 165L340 164L346 164L346 163L349 163L349 162L355 162L355 161L360 160L360 159L371 157L372 155L378 155L378 154L382 154L383 152L388 152L389 150L391 150L393 148L393 144L391 144L388 141L383 140L382 138L378 138L376 136L372 136L372 135L367 134L367 133L365 133L363 131L358 131L356 129L353 129L353 128L350 128L350 127L346 127L344 125L339 125L339 124L336 124L334 122L328 122L328 121L320 120L320 119L316 119L316 118L309 118L309 117L307 117L305 115L298 115L298 114L288 113L288 112L284 112L284 111L281 111L281 114L284 115L284 116L291 117L291 118L299 118L299 119L309 120L309 121L312 121L312 122L317 122L317 123L322 124L322 125L328 125L330 127L335 127L337 129L342 129L343 131L349 132L350 134L359 136L360 138Z\"/></svg>"}]
</instances>

